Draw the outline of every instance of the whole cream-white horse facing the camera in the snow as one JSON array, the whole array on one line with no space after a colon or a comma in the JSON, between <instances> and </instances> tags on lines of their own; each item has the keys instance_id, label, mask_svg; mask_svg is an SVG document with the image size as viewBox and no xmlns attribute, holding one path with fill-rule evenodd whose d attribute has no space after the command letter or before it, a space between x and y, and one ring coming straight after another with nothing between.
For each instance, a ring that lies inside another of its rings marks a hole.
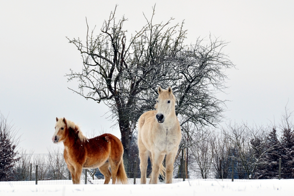
<instances>
[{"instance_id":1,"label":"whole cream-white horse facing the camera in the snow","mask_svg":"<svg viewBox=\"0 0 294 196\"><path fill-rule=\"evenodd\" d=\"M152 164L150 184L157 184L159 173L172 183L173 163L181 141L181 128L175 112L176 98L171 87L158 87L156 110L145 112L138 121L138 147L141 184L146 184L148 156ZM166 168L163 159L166 155Z\"/></svg>"}]
</instances>

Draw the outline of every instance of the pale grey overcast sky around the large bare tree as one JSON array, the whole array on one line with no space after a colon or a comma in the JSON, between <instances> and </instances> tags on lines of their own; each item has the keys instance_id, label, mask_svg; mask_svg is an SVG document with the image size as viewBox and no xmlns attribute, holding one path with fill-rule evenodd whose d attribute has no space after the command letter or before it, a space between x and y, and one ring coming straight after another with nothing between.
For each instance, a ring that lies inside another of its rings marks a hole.
<instances>
[{"instance_id":1,"label":"pale grey overcast sky around the large bare tree","mask_svg":"<svg viewBox=\"0 0 294 196\"><path fill-rule=\"evenodd\" d=\"M145 24L156 3L155 21L185 20L187 43L220 37L236 69L226 70L229 120L267 125L294 110L294 1L5 1L0 0L0 111L21 135L20 147L47 153L55 118L78 123L83 133L115 134L108 107L74 94L64 77L82 69L69 38L86 39L86 17L96 32L118 4L116 18L128 18L129 33ZM130 37L130 36L129 36ZM128 37L127 37L128 38ZM104 116L103 116L104 115ZM63 147L63 144L58 146Z\"/></svg>"}]
</instances>

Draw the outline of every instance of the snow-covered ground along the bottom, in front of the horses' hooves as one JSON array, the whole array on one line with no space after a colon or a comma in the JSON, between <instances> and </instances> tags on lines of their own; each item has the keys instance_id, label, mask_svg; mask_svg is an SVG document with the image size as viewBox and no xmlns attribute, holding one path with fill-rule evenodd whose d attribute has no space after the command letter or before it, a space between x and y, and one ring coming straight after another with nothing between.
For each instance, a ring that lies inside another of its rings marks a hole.
<instances>
[{"instance_id":1,"label":"snow-covered ground along the bottom, in front of the horses' hooves","mask_svg":"<svg viewBox=\"0 0 294 196\"><path fill-rule=\"evenodd\" d=\"M31 182L33 183L33 182ZM47 182L48 183L48 182ZM186 180L173 184L159 185L72 185L72 184L47 184L47 185L19 185L14 182L1 183L0 195L35 196L81 196L81 195L201 195L201 196L270 196L294 195L294 179L290 180L247 180L240 182L226 179L221 180Z\"/></svg>"}]
</instances>

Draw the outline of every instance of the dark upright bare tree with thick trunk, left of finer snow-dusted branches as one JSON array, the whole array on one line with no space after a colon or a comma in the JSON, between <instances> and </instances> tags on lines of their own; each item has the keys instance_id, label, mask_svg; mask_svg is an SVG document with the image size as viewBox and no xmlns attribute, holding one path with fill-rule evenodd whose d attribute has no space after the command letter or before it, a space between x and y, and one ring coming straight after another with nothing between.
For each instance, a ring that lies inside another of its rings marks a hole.
<instances>
[{"instance_id":1,"label":"dark upright bare tree with thick trunk, left of finer snow-dusted branches","mask_svg":"<svg viewBox=\"0 0 294 196\"><path fill-rule=\"evenodd\" d=\"M180 30L175 36L178 25L168 27L170 21L154 25L151 19L127 43L123 30L126 19L116 22L114 15L115 11L111 12L98 36L93 31L87 34L86 46L79 39L69 40L81 52L84 65L81 73L71 71L67 76L80 82L80 91L75 92L110 107L121 131L124 160L128 160L138 118L152 108L150 97L145 94L151 95L154 102L158 83L165 79L163 75L168 75L158 61L176 51L185 31Z\"/></svg>"}]
</instances>

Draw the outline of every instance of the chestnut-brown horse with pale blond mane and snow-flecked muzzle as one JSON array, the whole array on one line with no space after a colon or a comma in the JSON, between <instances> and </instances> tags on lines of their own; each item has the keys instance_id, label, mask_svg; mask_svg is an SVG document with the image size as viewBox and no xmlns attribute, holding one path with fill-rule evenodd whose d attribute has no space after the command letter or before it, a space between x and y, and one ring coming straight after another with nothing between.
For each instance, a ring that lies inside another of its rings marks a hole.
<instances>
[{"instance_id":1,"label":"chestnut-brown horse with pale blond mane and snow-flecked muzzle","mask_svg":"<svg viewBox=\"0 0 294 196\"><path fill-rule=\"evenodd\" d=\"M82 169L99 168L104 175L104 184L112 177L112 184L128 183L123 165L123 144L112 134L86 138L80 128L65 118L56 117L54 143L63 141L64 160L71 172L73 184L80 184ZM109 170L111 168L111 172Z\"/></svg>"}]
</instances>

